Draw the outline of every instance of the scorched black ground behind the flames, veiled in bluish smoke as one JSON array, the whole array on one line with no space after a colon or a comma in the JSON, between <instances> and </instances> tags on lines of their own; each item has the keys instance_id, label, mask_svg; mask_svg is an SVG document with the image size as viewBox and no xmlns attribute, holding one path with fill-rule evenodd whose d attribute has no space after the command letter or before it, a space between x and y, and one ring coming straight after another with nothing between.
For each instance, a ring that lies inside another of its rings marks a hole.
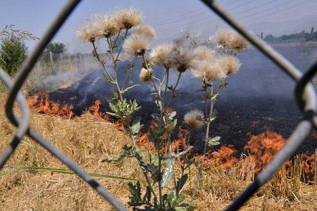
<instances>
[{"instance_id":1,"label":"scorched black ground behind the flames, veiled in bluish smoke","mask_svg":"<svg viewBox=\"0 0 317 211\"><path fill-rule=\"evenodd\" d=\"M309 68L317 56L317 49L313 47L284 47L277 50L302 72ZM211 136L221 136L220 146L233 145L239 152L243 151L249 134L260 134L266 129L288 138L302 118L294 100L294 82L256 49L244 51L238 57L242 66L239 72L230 76L228 88L218 97L215 106L218 118L211 124ZM121 63L119 68L124 70L125 65L127 63ZM132 70L131 82L137 82L139 70L137 64ZM178 111L178 122L182 122L187 110L204 108L196 98L195 90L199 89L199 86L199 82L193 79L189 72L185 72L179 89L181 97L175 99L172 104L172 108ZM101 108L106 110L106 100L111 96L111 90L111 86L103 78L102 70L96 70L71 87L54 91L49 95L51 100L75 105L75 113L80 115L97 99L102 102ZM142 87L133 89L126 96L136 98L142 106L137 115L142 116L144 125L151 122L150 114L156 110L149 97L150 92L149 86L142 84ZM192 134L192 145L197 151L203 146L203 137L202 131ZM317 141L309 136L298 153L312 152L315 148Z\"/></svg>"}]
</instances>

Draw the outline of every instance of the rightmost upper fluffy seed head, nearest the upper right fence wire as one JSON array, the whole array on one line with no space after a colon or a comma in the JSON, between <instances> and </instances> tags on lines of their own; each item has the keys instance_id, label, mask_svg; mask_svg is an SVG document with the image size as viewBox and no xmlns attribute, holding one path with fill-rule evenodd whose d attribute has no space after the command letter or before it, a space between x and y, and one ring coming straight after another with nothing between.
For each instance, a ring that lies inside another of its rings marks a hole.
<instances>
[{"instance_id":1,"label":"rightmost upper fluffy seed head, nearest the upper right fence wire","mask_svg":"<svg viewBox=\"0 0 317 211\"><path fill-rule=\"evenodd\" d=\"M244 39L244 37L240 34L232 31L219 32L217 42L225 48L232 49L237 52L247 49L249 46L247 39Z\"/></svg>"}]
</instances>

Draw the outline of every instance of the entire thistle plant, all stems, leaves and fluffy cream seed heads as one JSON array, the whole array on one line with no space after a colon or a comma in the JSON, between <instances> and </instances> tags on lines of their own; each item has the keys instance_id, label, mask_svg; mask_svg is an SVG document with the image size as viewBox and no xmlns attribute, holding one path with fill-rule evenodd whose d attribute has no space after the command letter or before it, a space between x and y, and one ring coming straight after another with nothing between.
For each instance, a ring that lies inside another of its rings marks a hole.
<instances>
[{"instance_id":1,"label":"entire thistle plant, all stems, leaves and fluffy cream seed heads","mask_svg":"<svg viewBox=\"0 0 317 211\"><path fill-rule=\"evenodd\" d=\"M183 34L173 42L159 44L150 49L150 41L155 38L155 31L149 25L141 25L142 20L142 13L135 8L122 9L111 15L94 15L87 25L77 32L79 37L92 43L94 56L104 68L105 79L116 87L109 103L112 111L109 114L125 120L132 139L132 146L125 146L122 155L112 160L105 159L103 162L132 157L139 163L146 181L145 191L142 191L142 184L139 182L128 184L129 205L133 210L194 210L192 201L199 188L207 148L218 144L220 139L209 137L211 122L216 118L216 98L228 85L226 78L240 68L240 61L236 56L247 47L247 42L233 32L218 34L216 46ZM106 39L111 69L107 68L106 60L101 58L101 53L97 51L97 39ZM123 70L118 70L118 63L123 59L120 57L123 52L130 54L132 62L127 66L125 78L119 81L118 71ZM128 101L124 97L126 91L137 87L137 84L126 87L128 76L137 59L142 60L139 80L151 85L152 91L149 94L157 106L157 112L151 115L157 127L149 130L149 140L154 143L155 152L148 152L147 159L143 158L144 152L138 148L135 141L142 125L141 118L133 117L132 114L140 107L135 100ZM179 122L176 111L170 112L169 108L175 98L180 97L178 87L184 72L192 72L193 77L198 79L197 82L201 83L197 97L204 101L204 111L193 109L185 115L184 122L189 129L187 147L183 151L174 151L172 134ZM177 77L172 77L173 75ZM216 83L213 83L216 81L220 82L217 87ZM203 156L197 164L187 158L187 153L192 149L192 146L189 146L190 132L198 128L205 129L205 137ZM181 160L180 172L175 170L177 160ZM182 193L182 188L189 177L187 168L192 164L199 170L191 201L186 204L183 203L185 194Z\"/></svg>"}]
</instances>

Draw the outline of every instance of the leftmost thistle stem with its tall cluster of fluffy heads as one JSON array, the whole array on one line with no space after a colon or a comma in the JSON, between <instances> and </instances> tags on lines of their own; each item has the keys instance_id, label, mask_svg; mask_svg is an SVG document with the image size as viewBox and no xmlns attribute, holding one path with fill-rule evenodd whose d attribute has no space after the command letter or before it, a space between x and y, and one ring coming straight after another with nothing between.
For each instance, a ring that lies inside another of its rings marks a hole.
<instances>
[{"instance_id":1,"label":"leftmost thistle stem with its tall cluster of fluffy heads","mask_svg":"<svg viewBox=\"0 0 317 211\"><path fill-rule=\"evenodd\" d=\"M136 101L128 101L123 94L139 86L138 84L127 85L130 70L135 65L135 62L132 61L128 65L123 82L120 82L118 78L118 71L122 71L118 70L118 63L122 61L120 56L123 49L134 56L139 56L147 49L151 39L154 39L154 30L151 30L149 26L140 25L142 22L142 12L131 7L120 9L108 15L92 15L88 23L76 32L78 37L92 43L92 53L101 63L106 81L115 87L113 96L109 101L109 107L112 112L108 114L125 121L125 124L128 125L133 146L135 146L135 135L139 132L139 128L136 127L140 126L140 124L139 122L132 122L132 114L141 107L137 105ZM97 51L96 41L101 39L106 41L108 49L106 56L110 58L111 68L106 66L107 59L102 58L102 52Z\"/></svg>"}]
</instances>

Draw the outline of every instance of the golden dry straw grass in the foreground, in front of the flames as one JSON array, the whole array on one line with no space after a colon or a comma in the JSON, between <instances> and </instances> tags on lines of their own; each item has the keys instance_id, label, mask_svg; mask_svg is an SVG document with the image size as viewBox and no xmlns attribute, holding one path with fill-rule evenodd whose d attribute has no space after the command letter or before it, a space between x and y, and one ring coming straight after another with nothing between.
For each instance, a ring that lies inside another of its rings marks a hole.
<instances>
[{"instance_id":1,"label":"golden dry straw grass in the foreground, in front of the flames","mask_svg":"<svg viewBox=\"0 0 317 211\"><path fill-rule=\"evenodd\" d=\"M4 94L0 95L0 134L13 135L15 128L4 115ZM75 160L87 172L141 179L142 173L134 160L118 163L101 162L114 158L130 140L113 124L94 119L63 120L32 113L32 128ZM67 168L44 148L25 138L36 148L20 144L8 161L9 165ZM0 137L0 150L10 142ZM247 170L244 179L237 177L241 167L223 170L220 167L204 172L201 188L194 205L197 210L223 210L243 191L253 177ZM1 170L0 174L8 171ZM184 191L189 196L194 186L197 170L191 168L190 182ZM281 171L283 172L283 171ZM275 175L253 196L242 210L317 210L317 188L303 184L297 177L287 179L284 174ZM127 181L97 179L122 203L128 206ZM0 177L0 210L112 210L87 184L75 175L49 172L23 172ZM187 200L188 201L188 200Z\"/></svg>"}]
</instances>

